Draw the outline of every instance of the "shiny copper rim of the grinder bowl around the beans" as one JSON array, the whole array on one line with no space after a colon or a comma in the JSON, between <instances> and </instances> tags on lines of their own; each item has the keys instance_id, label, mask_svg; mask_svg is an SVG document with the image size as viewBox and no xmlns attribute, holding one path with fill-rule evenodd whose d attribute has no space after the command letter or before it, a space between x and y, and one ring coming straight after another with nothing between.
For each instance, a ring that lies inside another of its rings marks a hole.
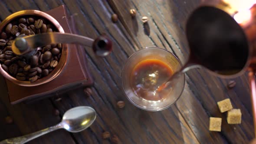
<instances>
[{"instance_id":1,"label":"shiny copper rim of the grinder bowl around the beans","mask_svg":"<svg viewBox=\"0 0 256 144\"><path fill-rule=\"evenodd\" d=\"M5 26L7 26L8 23L10 23L12 20L19 18L20 16L38 16L42 17L46 20L48 20L50 23L53 24L53 26L56 27L56 29L59 31L59 33L64 33L64 30L62 26L59 24L57 20L55 20L52 16L50 16L47 13L44 13L39 10L21 10L19 12L13 13L10 16L8 16L5 20L3 20L0 23L0 31L2 31ZM56 68L53 70L53 72L49 73L46 77L42 79L38 79L35 82L29 82L29 81L20 81L14 78L13 76L9 75L6 71L3 70L3 68L0 65L0 73L8 80L11 82L17 84L17 85L22 85L22 86L36 86L36 85L42 85L46 82L49 82L56 78L61 72L62 69L64 69L66 62L68 58L68 45L67 44L62 44L62 56L59 60L58 65Z\"/></svg>"}]
</instances>

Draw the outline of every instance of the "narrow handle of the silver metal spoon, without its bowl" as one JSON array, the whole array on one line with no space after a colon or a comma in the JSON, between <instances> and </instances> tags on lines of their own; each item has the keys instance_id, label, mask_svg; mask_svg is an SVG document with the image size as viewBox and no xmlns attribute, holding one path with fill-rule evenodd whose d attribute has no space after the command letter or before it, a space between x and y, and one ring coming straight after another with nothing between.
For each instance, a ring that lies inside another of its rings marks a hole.
<instances>
[{"instance_id":1,"label":"narrow handle of the silver metal spoon, without its bowl","mask_svg":"<svg viewBox=\"0 0 256 144\"><path fill-rule=\"evenodd\" d=\"M0 141L0 144L24 144L28 141L31 141L31 140L35 139L36 137L40 137L44 134L47 134L51 131L55 131L55 130L60 129L60 128L62 128L61 123L59 123L55 126L49 127L49 128L45 128L41 131L36 131L34 133L31 133L31 134L23 135L23 136L20 136L20 137L13 137L13 138L10 138L10 139Z\"/></svg>"}]
</instances>

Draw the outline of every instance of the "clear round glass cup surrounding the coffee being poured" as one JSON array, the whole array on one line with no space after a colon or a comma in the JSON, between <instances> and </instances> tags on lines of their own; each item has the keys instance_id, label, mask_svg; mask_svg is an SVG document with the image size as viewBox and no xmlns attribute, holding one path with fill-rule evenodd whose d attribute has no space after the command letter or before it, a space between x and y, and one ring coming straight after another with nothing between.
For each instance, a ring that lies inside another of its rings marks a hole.
<instances>
[{"instance_id":1,"label":"clear round glass cup surrounding the coffee being poured","mask_svg":"<svg viewBox=\"0 0 256 144\"><path fill-rule=\"evenodd\" d=\"M179 59L174 56L174 54L165 49L160 49L158 47L146 47L144 49L140 49L128 58L128 60L125 62L125 66L122 69L121 78L123 92L132 104L143 110L161 111L169 108L181 97L185 86L185 75L181 74L178 78L175 78L171 81L173 85L168 87L168 93L163 99L144 99L143 97L137 95L137 92L135 92L134 87L131 84L131 75L135 66L139 62L146 59L158 59L170 66L174 73L181 69L181 62ZM161 75L158 77L161 78ZM169 78L162 79L166 79L167 81Z\"/></svg>"}]
</instances>

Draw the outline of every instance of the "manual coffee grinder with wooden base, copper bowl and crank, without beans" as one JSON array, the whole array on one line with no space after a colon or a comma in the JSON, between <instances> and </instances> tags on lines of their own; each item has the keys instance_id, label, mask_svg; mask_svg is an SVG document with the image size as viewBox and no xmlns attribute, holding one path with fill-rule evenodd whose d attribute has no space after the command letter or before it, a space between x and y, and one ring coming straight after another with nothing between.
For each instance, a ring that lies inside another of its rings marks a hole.
<instances>
[{"instance_id":1,"label":"manual coffee grinder with wooden base, copper bowl and crank, without beans","mask_svg":"<svg viewBox=\"0 0 256 144\"><path fill-rule=\"evenodd\" d=\"M12 51L16 56L29 57L38 50L38 47L54 43L62 43L62 56L49 75L35 82L17 80L0 66L0 73L5 78L11 104L58 96L72 89L93 84L83 46L93 50L97 56L107 56L112 50L112 42L107 36L91 39L77 35L73 17L67 14L63 5L47 12L22 10L13 13L0 23L0 31L12 20L21 16L42 17L52 23L59 32L17 37L12 44Z\"/></svg>"}]
</instances>

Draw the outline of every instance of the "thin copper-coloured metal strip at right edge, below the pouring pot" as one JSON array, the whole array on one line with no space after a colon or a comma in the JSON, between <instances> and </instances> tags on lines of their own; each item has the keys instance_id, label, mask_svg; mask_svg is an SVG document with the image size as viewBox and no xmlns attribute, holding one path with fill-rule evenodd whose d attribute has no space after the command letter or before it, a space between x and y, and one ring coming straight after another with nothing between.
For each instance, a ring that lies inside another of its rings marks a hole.
<instances>
[{"instance_id":1,"label":"thin copper-coloured metal strip at right edge, below the pouring pot","mask_svg":"<svg viewBox=\"0 0 256 144\"><path fill-rule=\"evenodd\" d=\"M249 84L251 89L251 101L253 107L253 125L254 125L254 134L256 137L256 79L254 77L254 71L249 70Z\"/></svg>"}]
</instances>

